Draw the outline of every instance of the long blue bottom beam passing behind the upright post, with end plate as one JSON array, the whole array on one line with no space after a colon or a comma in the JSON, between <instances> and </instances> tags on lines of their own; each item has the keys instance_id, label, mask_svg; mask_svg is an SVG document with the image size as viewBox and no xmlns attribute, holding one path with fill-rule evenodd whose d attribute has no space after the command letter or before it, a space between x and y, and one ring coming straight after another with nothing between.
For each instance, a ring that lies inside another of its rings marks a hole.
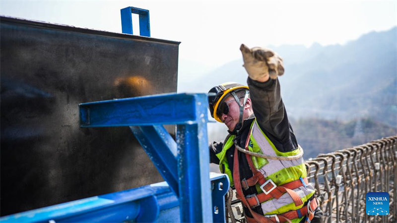
<instances>
[{"instance_id":1,"label":"long blue bottom beam passing behind the upright post, with end plate","mask_svg":"<svg viewBox=\"0 0 397 223\"><path fill-rule=\"evenodd\" d=\"M224 195L229 188L225 174L211 173L212 208L216 223L225 222ZM223 185L220 190L219 185ZM166 182L155 183L135 189L105 194L22 212L0 218L0 223L32 222L179 222L179 201Z\"/></svg>"}]
</instances>

